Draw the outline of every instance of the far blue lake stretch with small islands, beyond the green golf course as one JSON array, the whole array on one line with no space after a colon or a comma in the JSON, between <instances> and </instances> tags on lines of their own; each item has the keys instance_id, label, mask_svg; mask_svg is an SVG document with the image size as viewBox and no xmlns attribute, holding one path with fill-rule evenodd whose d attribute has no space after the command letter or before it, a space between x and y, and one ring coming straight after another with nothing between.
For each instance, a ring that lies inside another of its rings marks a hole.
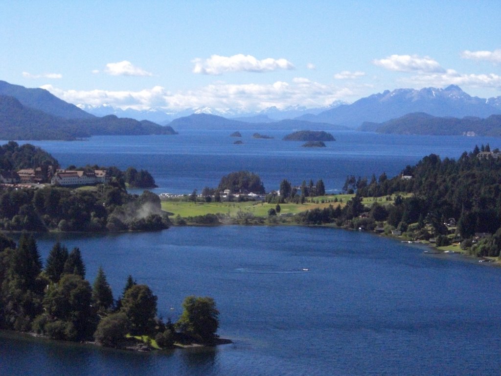
<instances>
[{"instance_id":1,"label":"far blue lake stretch with small islands, beyond the green golf course","mask_svg":"<svg viewBox=\"0 0 501 376\"><path fill-rule=\"evenodd\" d=\"M199 192L216 187L221 176L246 169L259 174L267 191L278 190L286 178L295 185L323 179L326 190L342 189L348 174L367 176L400 173L407 164L435 153L458 158L475 144L501 146L499 138L462 136L402 136L355 131L331 132L336 141L325 148L301 147L303 142L282 141L287 131L267 131L274 139L254 139L254 130L183 131L164 136L100 136L85 141L30 141L51 152L62 166L75 164L128 166L150 171L157 193ZM265 133L262 130L261 133ZM235 145L236 139L243 141ZM496 144L497 142L497 144Z\"/></svg>"}]
</instances>

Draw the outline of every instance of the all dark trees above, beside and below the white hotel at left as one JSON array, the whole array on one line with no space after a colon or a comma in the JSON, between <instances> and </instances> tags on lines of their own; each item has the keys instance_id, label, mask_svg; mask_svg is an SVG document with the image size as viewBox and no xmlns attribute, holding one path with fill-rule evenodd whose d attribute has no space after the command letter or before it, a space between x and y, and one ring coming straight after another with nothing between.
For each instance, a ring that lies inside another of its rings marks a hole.
<instances>
[{"instance_id":1,"label":"all dark trees above, beside and below the white hotel at left","mask_svg":"<svg viewBox=\"0 0 501 376\"><path fill-rule=\"evenodd\" d=\"M19 146L11 141L0 147L0 171L43 165L59 164L49 153L30 144ZM129 195L126 191L126 184L155 186L148 171L129 167L123 172L117 167L97 165L69 169L106 169L111 180L92 190L0 186L0 230L152 231L170 225L157 195L148 191L141 196Z\"/></svg>"}]
</instances>

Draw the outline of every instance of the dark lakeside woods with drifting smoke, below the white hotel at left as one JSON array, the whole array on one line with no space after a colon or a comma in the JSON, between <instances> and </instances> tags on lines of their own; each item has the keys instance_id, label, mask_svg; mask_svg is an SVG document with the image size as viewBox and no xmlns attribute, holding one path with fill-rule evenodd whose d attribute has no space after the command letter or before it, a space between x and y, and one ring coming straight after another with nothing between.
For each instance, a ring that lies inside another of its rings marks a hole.
<instances>
[{"instance_id":1,"label":"dark lakeside woods with drifting smoke, below the white hotel at left","mask_svg":"<svg viewBox=\"0 0 501 376\"><path fill-rule=\"evenodd\" d=\"M92 191L51 186L0 190L0 229L5 231L155 231L169 225L157 195L129 195L113 183Z\"/></svg>"}]
</instances>

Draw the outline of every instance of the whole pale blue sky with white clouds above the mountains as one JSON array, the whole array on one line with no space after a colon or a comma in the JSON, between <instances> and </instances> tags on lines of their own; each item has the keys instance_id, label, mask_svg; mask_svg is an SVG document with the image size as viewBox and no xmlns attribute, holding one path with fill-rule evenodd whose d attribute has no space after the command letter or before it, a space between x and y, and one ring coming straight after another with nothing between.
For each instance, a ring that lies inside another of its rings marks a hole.
<instances>
[{"instance_id":1,"label":"whole pale blue sky with white clouds above the mountains","mask_svg":"<svg viewBox=\"0 0 501 376\"><path fill-rule=\"evenodd\" d=\"M0 1L0 80L77 105L260 111L501 95L501 0Z\"/></svg>"}]
</instances>

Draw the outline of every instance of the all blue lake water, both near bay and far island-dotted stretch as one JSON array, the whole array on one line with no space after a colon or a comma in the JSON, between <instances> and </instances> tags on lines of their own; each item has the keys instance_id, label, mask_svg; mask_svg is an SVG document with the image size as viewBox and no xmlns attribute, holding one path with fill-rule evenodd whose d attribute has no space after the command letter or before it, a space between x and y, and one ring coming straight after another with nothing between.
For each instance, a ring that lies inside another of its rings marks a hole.
<instances>
[{"instance_id":1,"label":"all blue lake water, both near bay and far island-dotted stretch","mask_svg":"<svg viewBox=\"0 0 501 376\"><path fill-rule=\"evenodd\" d=\"M258 173L268 190L322 178L399 173L429 153L458 157L497 139L333 132L327 148L229 131L34 141L69 164L152 172L159 192L190 193L228 172ZM171 228L121 235L49 234L80 247L92 282L102 266L115 297L132 274L176 320L187 295L214 297L215 349L131 353L0 333L1 375L498 375L501 270L367 233L304 227ZM307 270L304 270L307 269ZM173 309L171 309L173 308Z\"/></svg>"}]
</instances>

